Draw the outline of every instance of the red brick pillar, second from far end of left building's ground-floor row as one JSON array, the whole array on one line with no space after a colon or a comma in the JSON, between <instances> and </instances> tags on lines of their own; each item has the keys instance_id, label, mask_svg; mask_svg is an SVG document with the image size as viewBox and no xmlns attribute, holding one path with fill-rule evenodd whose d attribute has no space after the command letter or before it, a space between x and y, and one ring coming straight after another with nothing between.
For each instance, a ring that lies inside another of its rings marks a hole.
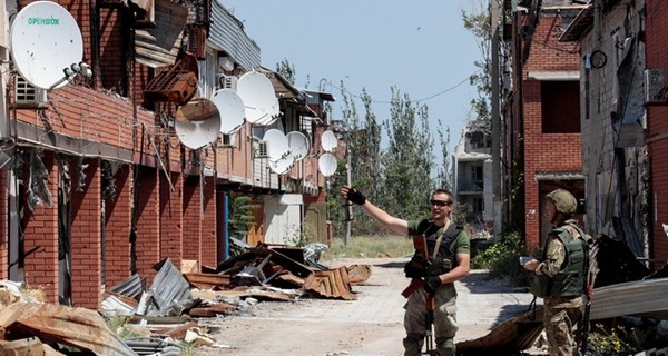
<instances>
[{"instance_id":1,"label":"red brick pillar, second from far end of left building's ground-floor row","mask_svg":"<svg viewBox=\"0 0 668 356\"><path fill-rule=\"evenodd\" d=\"M199 177L188 177L184 182L184 259L202 263L200 196Z\"/></svg>"}]
</instances>

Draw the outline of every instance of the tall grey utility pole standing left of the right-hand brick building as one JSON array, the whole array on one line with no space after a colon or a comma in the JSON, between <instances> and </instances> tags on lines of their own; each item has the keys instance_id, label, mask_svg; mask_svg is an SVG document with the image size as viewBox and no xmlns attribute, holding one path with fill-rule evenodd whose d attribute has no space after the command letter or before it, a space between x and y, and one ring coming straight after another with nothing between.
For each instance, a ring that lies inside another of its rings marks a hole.
<instances>
[{"instance_id":1,"label":"tall grey utility pole standing left of the right-hand brick building","mask_svg":"<svg viewBox=\"0 0 668 356\"><path fill-rule=\"evenodd\" d=\"M501 196L501 115L499 109L499 1L491 0L492 13L492 201L494 238L503 231L503 204Z\"/></svg>"}]
</instances>

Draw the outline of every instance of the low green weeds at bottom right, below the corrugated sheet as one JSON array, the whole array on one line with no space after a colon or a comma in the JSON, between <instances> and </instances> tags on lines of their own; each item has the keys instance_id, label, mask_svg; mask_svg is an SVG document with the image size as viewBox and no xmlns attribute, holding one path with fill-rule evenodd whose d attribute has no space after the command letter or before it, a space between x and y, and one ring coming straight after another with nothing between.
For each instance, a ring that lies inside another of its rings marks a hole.
<instances>
[{"instance_id":1,"label":"low green weeds at bottom right, below the corrugated sheet","mask_svg":"<svg viewBox=\"0 0 668 356\"><path fill-rule=\"evenodd\" d=\"M606 328L596 324L587 343L589 350L596 355L636 355L645 349L640 342L642 338L640 332L632 327L627 330L622 325Z\"/></svg>"}]
</instances>

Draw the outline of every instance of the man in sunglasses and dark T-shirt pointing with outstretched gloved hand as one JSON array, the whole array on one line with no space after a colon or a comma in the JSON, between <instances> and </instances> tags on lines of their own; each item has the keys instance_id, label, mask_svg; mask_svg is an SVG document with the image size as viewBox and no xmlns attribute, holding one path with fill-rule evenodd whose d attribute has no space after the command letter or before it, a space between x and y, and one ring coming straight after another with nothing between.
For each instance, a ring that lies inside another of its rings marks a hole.
<instances>
[{"instance_id":1,"label":"man in sunglasses and dark T-shirt pointing with outstretched gloved hand","mask_svg":"<svg viewBox=\"0 0 668 356\"><path fill-rule=\"evenodd\" d=\"M454 336L459 329L454 281L469 275L471 243L466 231L450 219L454 210L452 192L434 190L430 199L431 219L412 221L391 216L366 200L355 188L344 186L341 194L361 206L380 225L414 237L416 250L404 267L406 277L412 281L402 293L407 298L404 306L404 356L421 355L425 339L431 348L432 323L435 349L428 349L426 354L454 356ZM424 245L426 250L422 247Z\"/></svg>"}]
</instances>

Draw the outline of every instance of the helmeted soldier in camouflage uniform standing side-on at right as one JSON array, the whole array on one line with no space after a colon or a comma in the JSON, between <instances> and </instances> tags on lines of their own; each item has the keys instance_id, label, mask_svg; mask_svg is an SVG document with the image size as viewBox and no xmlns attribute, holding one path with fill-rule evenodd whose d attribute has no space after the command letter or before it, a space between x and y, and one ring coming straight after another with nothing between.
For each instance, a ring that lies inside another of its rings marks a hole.
<instances>
[{"instance_id":1,"label":"helmeted soldier in camouflage uniform standing side-on at right","mask_svg":"<svg viewBox=\"0 0 668 356\"><path fill-rule=\"evenodd\" d=\"M579 355L578 328L582 319L588 269L589 236L571 219L578 201L567 190L547 195L546 218L554 229L546 240L542 261L531 259L524 268L544 278L543 327L550 356Z\"/></svg>"}]
</instances>

